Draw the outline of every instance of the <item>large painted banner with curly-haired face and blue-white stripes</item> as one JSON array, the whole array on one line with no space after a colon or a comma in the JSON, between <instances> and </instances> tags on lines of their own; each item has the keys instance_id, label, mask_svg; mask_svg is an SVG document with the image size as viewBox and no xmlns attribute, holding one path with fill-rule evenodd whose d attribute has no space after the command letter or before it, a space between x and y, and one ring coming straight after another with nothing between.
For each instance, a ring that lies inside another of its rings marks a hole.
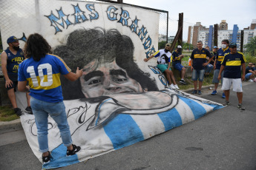
<instances>
[{"instance_id":1,"label":"large painted banner with curly-haired face and blue-white stripes","mask_svg":"<svg viewBox=\"0 0 256 170\"><path fill-rule=\"evenodd\" d=\"M13 2L4 1L3 7L10 10L23 5L13 7ZM73 143L82 149L66 157L59 129L49 117L53 160L44 164L44 169L68 166L130 146L223 107L168 89L157 61L143 62L157 50L158 13L86 1L40 0L38 5L39 10L34 14L28 11L29 17L19 21L0 11L4 16L0 23L30 26L19 30L1 27L2 38L16 35L26 41L30 33L41 33L53 47L53 54L62 57L71 69L84 71L75 82L61 78ZM24 109L25 103L19 106ZM42 161L34 116L24 113L21 122L33 153Z\"/></svg>"}]
</instances>

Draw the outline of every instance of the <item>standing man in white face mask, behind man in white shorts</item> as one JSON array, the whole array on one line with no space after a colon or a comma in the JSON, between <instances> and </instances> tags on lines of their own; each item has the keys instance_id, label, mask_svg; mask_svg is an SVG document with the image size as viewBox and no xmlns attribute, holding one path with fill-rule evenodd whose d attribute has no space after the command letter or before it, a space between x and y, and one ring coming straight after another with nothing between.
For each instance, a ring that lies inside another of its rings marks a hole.
<instances>
[{"instance_id":1,"label":"standing man in white face mask, behind man in white shorts","mask_svg":"<svg viewBox=\"0 0 256 170\"><path fill-rule=\"evenodd\" d=\"M217 56L214 61L214 77L212 79L212 83L214 83L214 90L211 93L211 95L217 95L217 86L219 85L219 80L217 77L220 72L221 62L223 61L224 55L226 55L229 52L230 52L229 40L223 39L223 41L221 41L221 48L219 50L217 50ZM223 73L221 74L221 85L223 84ZM226 98L224 91L223 91L222 98Z\"/></svg>"}]
</instances>

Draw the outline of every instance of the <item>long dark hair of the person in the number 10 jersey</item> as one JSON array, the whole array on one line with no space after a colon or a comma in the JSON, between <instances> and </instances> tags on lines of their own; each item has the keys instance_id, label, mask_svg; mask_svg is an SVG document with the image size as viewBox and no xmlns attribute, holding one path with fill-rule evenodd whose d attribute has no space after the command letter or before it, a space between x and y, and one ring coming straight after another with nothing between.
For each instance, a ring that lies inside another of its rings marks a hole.
<instances>
[{"instance_id":1,"label":"long dark hair of the person in the number 10 jersey","mask_svg":"<svg viewBox=\"0 0 256 170\"><path fill-rule=\"evenodd\" d=\"M38 33L29 35L24 45L24 55L26 58L33 57L34 61L40 61L47 53L51 53L51 47Z\"/></svg>"}]
</instances>

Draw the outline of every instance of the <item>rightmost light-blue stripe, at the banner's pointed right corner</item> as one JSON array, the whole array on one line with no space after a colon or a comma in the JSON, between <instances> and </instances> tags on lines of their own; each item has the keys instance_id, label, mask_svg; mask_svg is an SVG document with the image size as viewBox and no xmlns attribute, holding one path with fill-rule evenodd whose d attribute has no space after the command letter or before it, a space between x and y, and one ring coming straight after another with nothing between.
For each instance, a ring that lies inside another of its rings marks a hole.
<instances>
[{"instance_id":1,"label":"rightmost light-blue stripe, at the banner's pointed right corner","mask_svg":"<svg viewBox=\"0 0 256 170\"><path fill-rule=\"evenodd\" d=\"M206 109L203 108L203 106L200 105L200 103L197 103L191 99L184 98L179 96L180 100L183 100L192 110L194 114L194 119L201 118L203 115L206 115Z\"/></svg>"}]
</instances>

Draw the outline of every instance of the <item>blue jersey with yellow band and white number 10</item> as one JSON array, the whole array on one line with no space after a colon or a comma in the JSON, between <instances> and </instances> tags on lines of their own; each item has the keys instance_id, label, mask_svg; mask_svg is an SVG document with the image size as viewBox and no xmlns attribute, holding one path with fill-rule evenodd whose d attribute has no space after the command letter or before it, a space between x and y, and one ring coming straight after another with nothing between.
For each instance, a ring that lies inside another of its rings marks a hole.
<instances>
[{"instance_id":1,"label":"blue jersey with yellow band and white number 10","mask_svg":"<svg viewBox=\"0 0 256 170\"><path fill-rule=\"evenodd\" d=\"M60 75L66 75L71 69L56 55L45 55L40 61L32 57L19 64L18 81L28 81L30 95L41 101L63 101Z\"/></svg>"}]
</instances>

